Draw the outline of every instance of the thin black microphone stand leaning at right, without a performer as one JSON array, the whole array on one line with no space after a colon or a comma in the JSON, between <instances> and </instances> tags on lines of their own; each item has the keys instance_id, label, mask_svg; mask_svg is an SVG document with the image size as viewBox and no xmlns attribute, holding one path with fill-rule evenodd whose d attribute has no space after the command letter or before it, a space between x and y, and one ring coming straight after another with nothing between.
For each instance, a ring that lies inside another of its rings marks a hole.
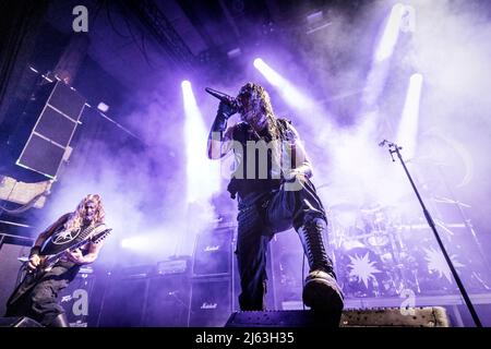
<instances>
[{"instance_id":1,"label":"thin black microphone stand leaning at right, without a performer","mask_svg":"<svg viewBox=\"0 0 491 349\"><path fill-rule=\"evenodd\" d=\"M462 297L464 298L464 301L467 305L467 308L469 309L470 315L472 316L472 320L476 324L477 327L482 327L481 321L479 320L478 314L476 313L476 310L474 309L472 302L470 301L469 296L467 294L467 291L464 287L464 284L462 284L460 281L460 277L457 274L457 270L454 267L454 264L452 263L452 260L448 256L448 253L445 250L445 246L442 243L442 240L440 239L439 232L436 231L436 226L433 221L433 218L431 217L430 213L427 209L427 206L424 205L421 196L419 195L418 189L416 188L415 182L412 181L412 178L406 167L406 164L404 163L403 156L400 155L400 149L403 147L398 146L397 144L393 143L393 142L388 142L387 140L382 141L381 143L379 143L380 146L384 146L385 144L388 145L388 153L391 154L392 157L392 161L395 161L394 159L394 153L397 155L397 157L400 160L400 164L404 167L404 171L407 174L407 178L409 179L409 182L411 183L411 186L416 193L416 196L418 196L418 201L422 207L423 214L424 214L424 218L427 218L428 225L430 226L431 230L433 231L433 234L436 239L436 242L439 243L440 249L442 250L443 256L445 257L446 263L448 264L448 267L452 272L452 275L455 278L455 281L457 282L458 289L462 293Z\"/></svg>"}]
</instances>

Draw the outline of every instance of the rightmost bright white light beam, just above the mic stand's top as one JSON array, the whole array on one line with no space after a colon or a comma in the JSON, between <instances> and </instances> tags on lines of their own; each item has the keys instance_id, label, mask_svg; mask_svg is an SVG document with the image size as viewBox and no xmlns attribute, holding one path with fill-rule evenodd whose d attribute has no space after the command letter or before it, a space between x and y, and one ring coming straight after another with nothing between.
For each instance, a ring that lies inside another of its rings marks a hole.
<instances>
[{"instance_id":1,"label":"rightmost bright white light beam, just above the mic stand's top","mask_svg":"<svg viewBox=\"0 0 491 349\"><path fill-rule=\"evenodd\" d=\"M412 74L409 79L406 101L397 131L397 144L403 146L407 159L412 158L416 153L422 82L421 74Z\"/></svg>"}]
</instances>

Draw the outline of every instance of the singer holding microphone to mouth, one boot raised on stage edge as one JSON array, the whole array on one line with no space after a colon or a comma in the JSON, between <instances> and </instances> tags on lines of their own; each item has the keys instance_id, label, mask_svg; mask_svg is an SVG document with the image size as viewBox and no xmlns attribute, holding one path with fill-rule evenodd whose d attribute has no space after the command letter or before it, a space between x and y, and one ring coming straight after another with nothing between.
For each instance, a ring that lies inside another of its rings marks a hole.
<instances>
[{"instance_id":1,"label":"singer holding microphone to mouth, one boot raised on stage edge","mask_svg":"<svg viewBox=\"0 0 491 349\"><path fill-rule=\"evenodd\" d=\"M340 316L344 297L324 242L327 218L310 180L312 167L297 130L290 121L276 118L267 92L258 84L246 84L236 98L214 96L220 103L207 155L219 159L233 152L237 169L228 191L232 198L237 196L239 208L240 309L265 310L268 243L276 232L294 227L310 267L304 304ZM227 128L237 112L240 122Z\"/></svg>"}]
</instances>

